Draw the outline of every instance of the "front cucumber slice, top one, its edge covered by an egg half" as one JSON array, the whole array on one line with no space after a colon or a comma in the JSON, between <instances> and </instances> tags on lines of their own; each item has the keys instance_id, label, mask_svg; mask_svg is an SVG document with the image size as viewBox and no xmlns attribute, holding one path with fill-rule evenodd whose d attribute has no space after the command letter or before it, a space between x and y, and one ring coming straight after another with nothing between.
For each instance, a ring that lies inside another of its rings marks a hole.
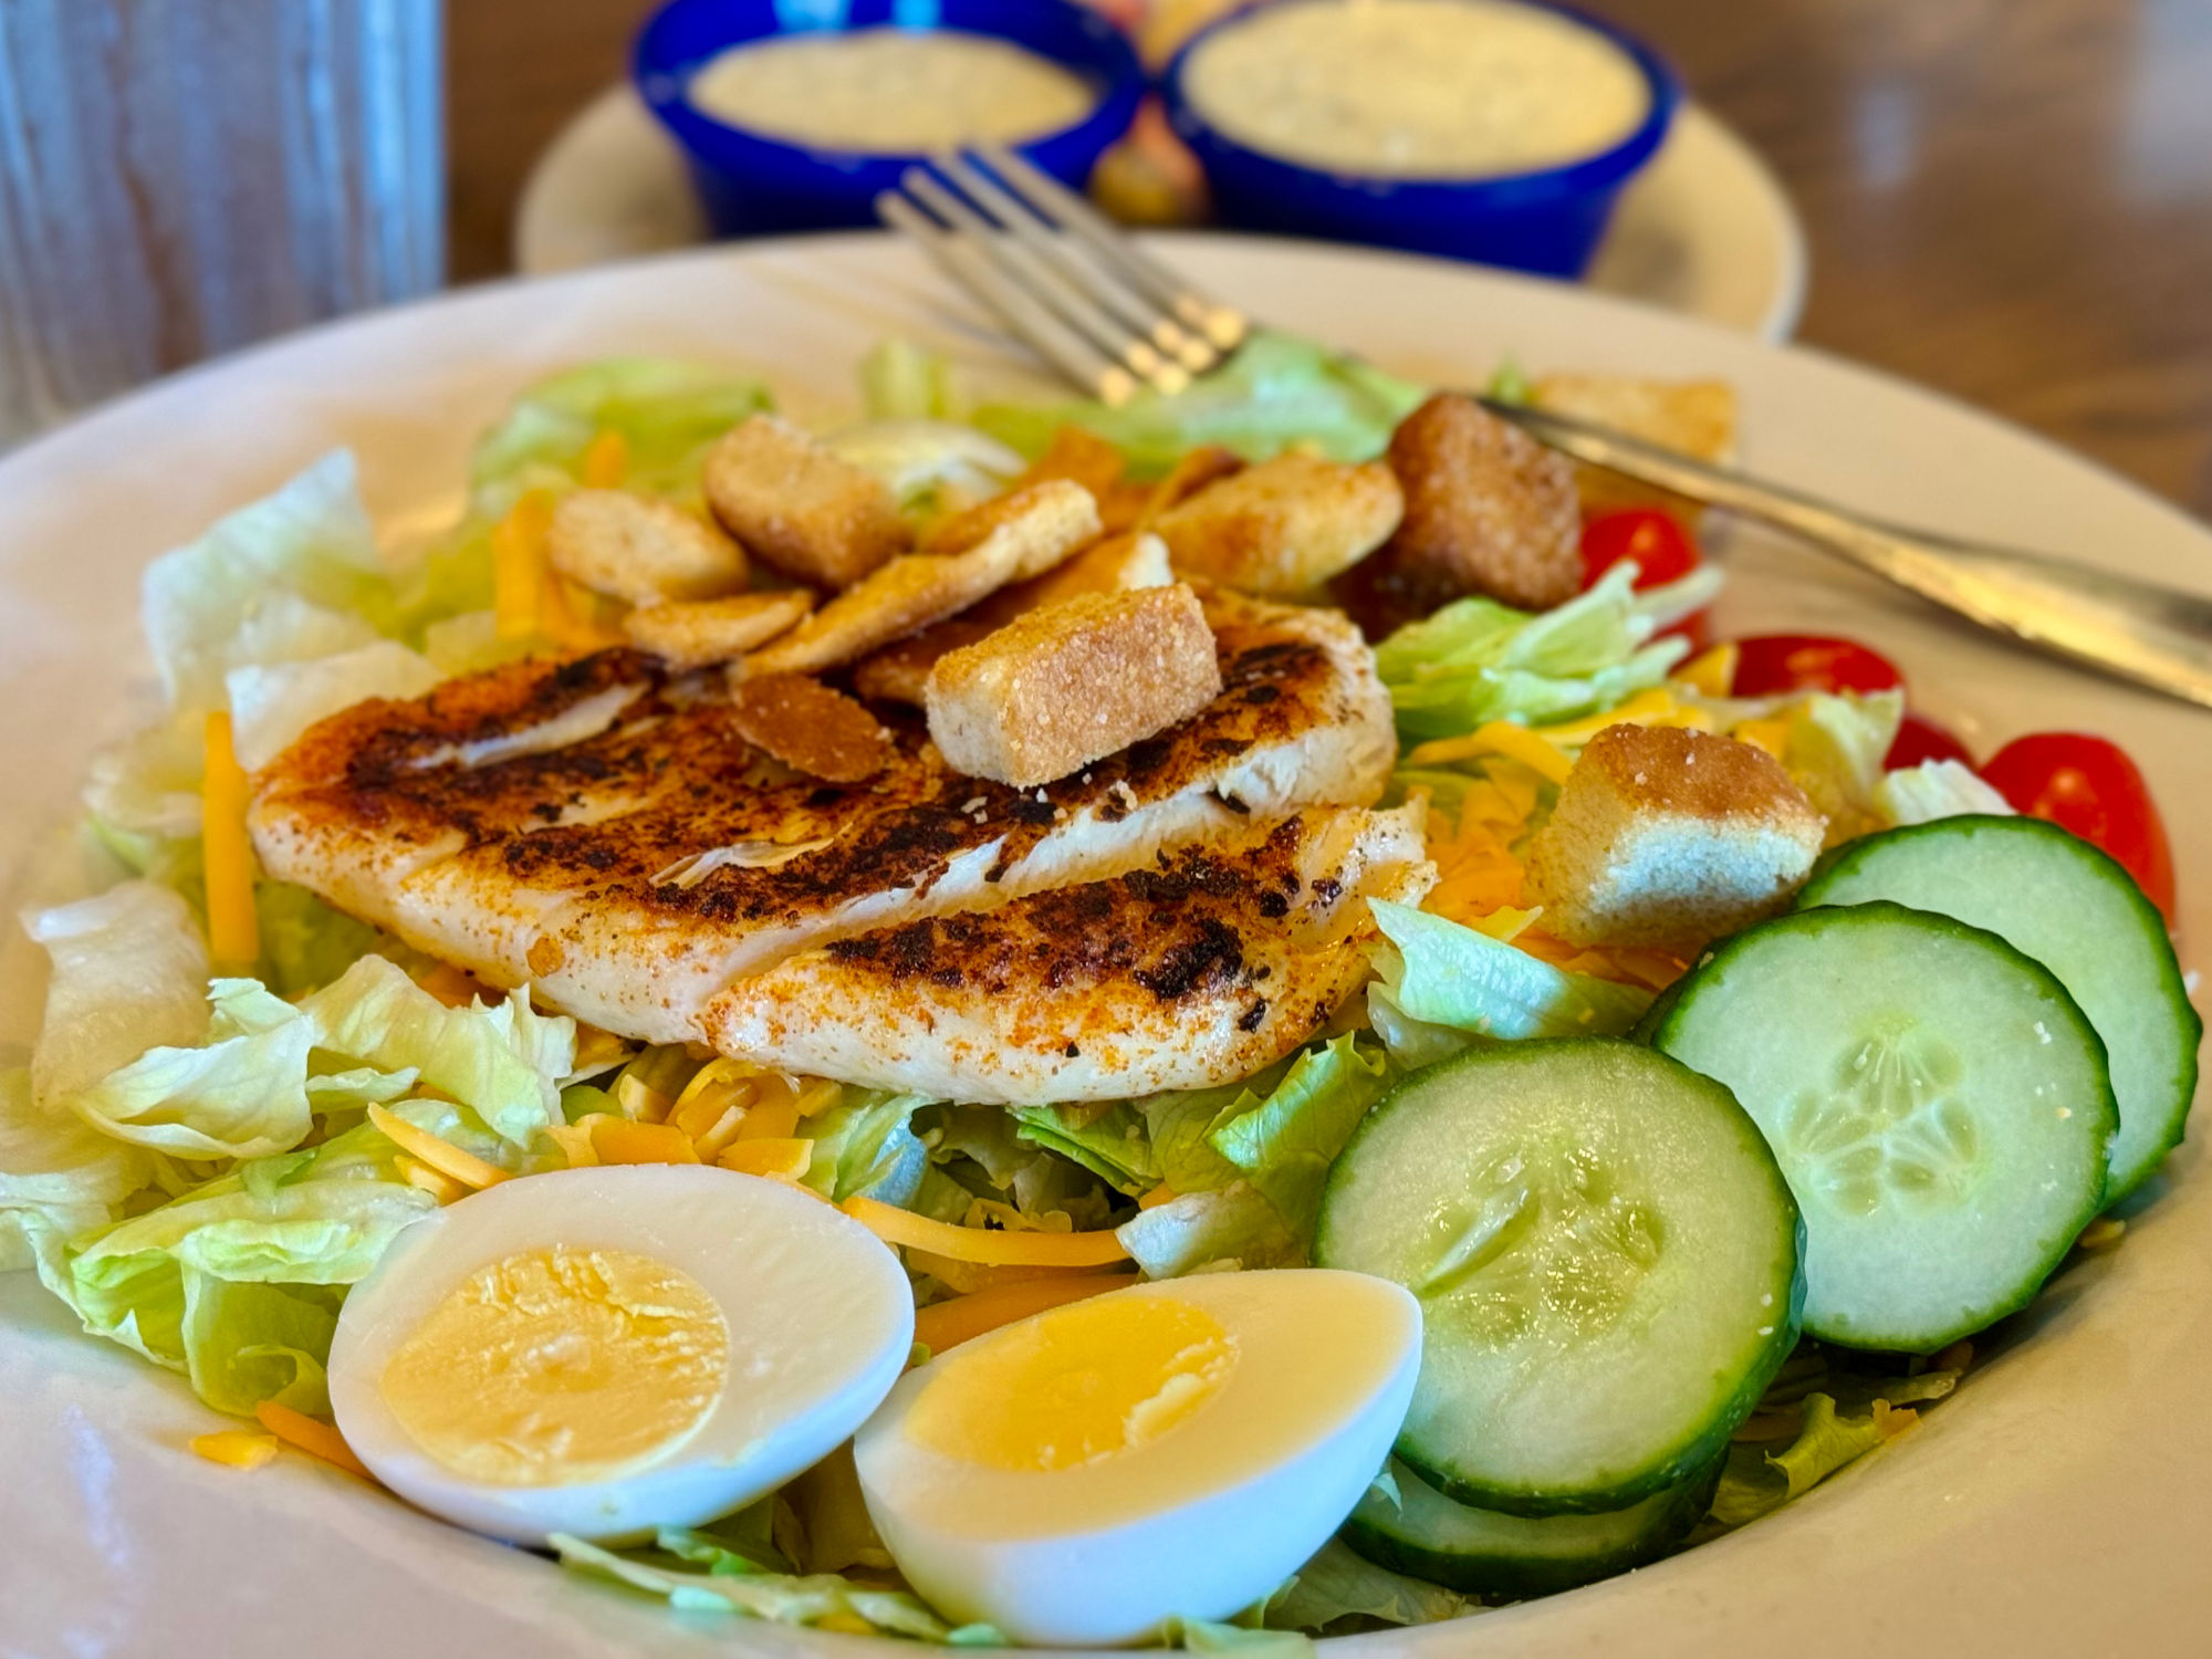
<instances>
[{"instance_id":1,"label":"front cucumber slice, top one, its edge covered by an egg half","mask_svg":"<svg viewBox=\"0 0 2212 1659\"><path fill-rule=\"evenodd\" d=\"M1725 1088L1610 1037L1418 1071L1329 1170L1314 1259L1420 1296L1398 1455L1513 1515L1701 1471L1796 1340L1803 1228Z\"/></svg>"}]
</instances>

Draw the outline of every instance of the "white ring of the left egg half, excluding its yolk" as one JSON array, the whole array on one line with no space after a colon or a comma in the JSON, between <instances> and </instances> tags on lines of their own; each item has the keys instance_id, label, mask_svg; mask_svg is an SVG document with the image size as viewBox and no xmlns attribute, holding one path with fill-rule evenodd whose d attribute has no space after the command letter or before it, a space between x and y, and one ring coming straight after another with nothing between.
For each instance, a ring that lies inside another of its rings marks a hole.
<instances>
[{"instance_id":1,"label":"white ring of the left egg half, excluding its yolk","mask_svg":"<svg viewBox=\"0 0 2212 1659\"><path fill-rule=\"evenodd\" d=\"M469 1480L414 1442L383 1371L469 1274L555 1245L628 1250L690 1274L728 1321L728 1383L699 1429L637 1473ZM602 1166L504 1181L407 1228L345 1298L330 1402L361 1462L434 1515L515 1544L628 1542L726 1515L818 1462L876 1409L911 1347L905 1270L827 1203L712 1166Z\"/></svg>"}]
</instances>

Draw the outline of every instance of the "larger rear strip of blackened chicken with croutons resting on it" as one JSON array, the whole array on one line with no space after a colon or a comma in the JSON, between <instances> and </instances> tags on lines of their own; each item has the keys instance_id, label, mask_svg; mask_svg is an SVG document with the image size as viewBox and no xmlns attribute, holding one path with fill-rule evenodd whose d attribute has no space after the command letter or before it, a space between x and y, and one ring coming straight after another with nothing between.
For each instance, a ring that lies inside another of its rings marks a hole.
<instances>
[{"instance_id":1,"label":"larger rear strip of blackened chicken with croutons resting on it","mask_svg":"<svg viewBox=\"0 0 2212 1659\"><path fill-rule=\"evenodd\" d=\"M958 776L920 723L832 785L734 730L721 684L611 650L513 664L310 728L257 776L254 845L491 984L648 1042L843 933L1097 880L1310 803L1371 803L1389 697L1329 611L1208 599L1223 692L1035 790Z\"/></svg>"}]
</instances>

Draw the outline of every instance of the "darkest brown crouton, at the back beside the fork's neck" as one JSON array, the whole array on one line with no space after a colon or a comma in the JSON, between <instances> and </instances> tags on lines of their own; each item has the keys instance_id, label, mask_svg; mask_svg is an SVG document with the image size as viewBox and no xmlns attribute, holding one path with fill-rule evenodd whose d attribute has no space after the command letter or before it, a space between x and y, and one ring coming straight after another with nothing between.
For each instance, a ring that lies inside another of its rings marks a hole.
<instances>
[{"instance_id":1,"label":"darkest brown crouton, at the back beside the fork's neck","mask_svg":"<svg viewBox=\"0 0 2212 1659\"><path fill-rule=\"evenodd\" d=\"M1467 593L1524 611L1575 597L1582 513L1564 456L1473 398L1442 392L1391 434L1389 467L1405 489L1405 518L1352 573L1347 593L1369 633Z\"/></svg>"}]
</instances>

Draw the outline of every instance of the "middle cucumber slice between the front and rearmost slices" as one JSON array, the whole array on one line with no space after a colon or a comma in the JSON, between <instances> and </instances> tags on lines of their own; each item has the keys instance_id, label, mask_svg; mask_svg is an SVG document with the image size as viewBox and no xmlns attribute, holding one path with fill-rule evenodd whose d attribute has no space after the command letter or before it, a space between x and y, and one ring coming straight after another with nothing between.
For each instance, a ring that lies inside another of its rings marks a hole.
<instances>
[{"instance_id":1,"label":"middle cucumber slice between the front and rearmost slices","mask_svg":"<svg viewBox=\"0 0 2212 1659\"><path fill-rule=\"evenodd\" d=\"M2022 1307L2097 1214L2104 1044L2039 962L1902 905L1717 945L1652 1044L1728 1084L1805 1210L1805 1329L1931 1354Z\"/></svg>"}]
</instances>

